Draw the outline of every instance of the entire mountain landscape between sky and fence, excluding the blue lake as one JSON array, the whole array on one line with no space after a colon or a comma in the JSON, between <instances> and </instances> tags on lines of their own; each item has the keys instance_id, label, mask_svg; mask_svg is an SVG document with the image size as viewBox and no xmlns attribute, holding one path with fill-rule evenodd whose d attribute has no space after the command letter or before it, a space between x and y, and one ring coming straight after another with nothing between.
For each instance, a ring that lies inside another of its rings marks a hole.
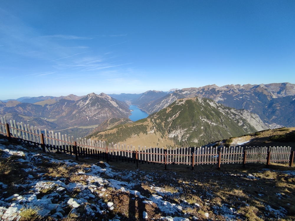
<instances>
[{"instance_id":1,"label":"entire mountain landscape between sky and fence, excluding the blue lake","mask_svg":"<svg viewBox=\"0 0 295 221\"><path fill-rule=\"evenodd\" d=\"M150 116L130 121L131 104ZM294 111L295 85L290 83L0 101L0 114L8 121L135 146L202 146L268 128L292 127Z\"/></svg>"}]
</instances>

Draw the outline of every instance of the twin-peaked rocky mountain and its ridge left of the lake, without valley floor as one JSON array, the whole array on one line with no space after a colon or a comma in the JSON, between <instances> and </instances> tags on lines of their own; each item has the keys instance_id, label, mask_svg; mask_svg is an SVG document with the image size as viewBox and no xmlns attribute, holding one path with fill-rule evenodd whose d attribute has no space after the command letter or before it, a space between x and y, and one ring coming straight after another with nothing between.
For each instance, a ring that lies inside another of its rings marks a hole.
<instances>
[{"instance_id":1,"label":"twin-peaked rocky mountain and its ridge left of the lake, without valley floor","mask_svg":"<svg viewBox=\"0 0 295 221\"><path fill-rule=\"evenodd\" d=\"M47 118L59 126L90 126L99 125L110 118L128 118L129 106L110 96L91 93L75 101L60 99L53 104L35 105L17 103L7 107L0 103L0 113L18 113L30 117Z\"/></svg>"}]
</instances>

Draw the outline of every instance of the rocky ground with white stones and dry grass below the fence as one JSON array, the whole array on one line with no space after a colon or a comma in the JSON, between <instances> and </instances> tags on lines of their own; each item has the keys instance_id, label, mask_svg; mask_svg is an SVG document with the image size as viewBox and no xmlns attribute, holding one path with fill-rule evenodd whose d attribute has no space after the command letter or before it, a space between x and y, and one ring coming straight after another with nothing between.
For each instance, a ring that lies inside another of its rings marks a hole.
<instances>
[{"instance_id":1,"label":"rocky ground with white stones and dry grass below the fence","mask_svg":"<svg viewBox=\"0 0 295 221\"><path fill-rule=\"evenodd\" d=\"M0 220L294 220L295 168L75 161L0 137Z\"/></svg>"}]
</instances>

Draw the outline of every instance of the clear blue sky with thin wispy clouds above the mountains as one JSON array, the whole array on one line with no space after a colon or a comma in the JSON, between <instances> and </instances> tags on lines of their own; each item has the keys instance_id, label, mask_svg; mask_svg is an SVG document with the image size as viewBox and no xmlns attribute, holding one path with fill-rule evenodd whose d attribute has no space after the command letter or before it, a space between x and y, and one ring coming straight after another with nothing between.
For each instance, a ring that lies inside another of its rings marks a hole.
<instances>
[{"instance_id":1,"label":"clear blue sky with thin wispy clouds above the mountains","mask_svg":"<svg viewBox=\"0 0 295 221\"><path fill-rule=\"evenodd\" d=\"M0 99L295 83L295 1L0 1Z\"/></svg>"}]
</instances>

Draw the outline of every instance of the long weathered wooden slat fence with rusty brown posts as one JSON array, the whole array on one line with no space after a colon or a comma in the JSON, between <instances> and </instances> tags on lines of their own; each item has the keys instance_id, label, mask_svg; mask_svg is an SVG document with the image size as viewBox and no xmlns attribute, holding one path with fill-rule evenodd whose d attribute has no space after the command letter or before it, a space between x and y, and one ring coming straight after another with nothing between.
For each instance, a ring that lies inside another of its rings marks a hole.
<instances>
[{"instance_id":1,"label":"long weathered wooden slat fence with rusty brown posts","mask_svg":"<svg viewBox=\"0 0 295 221\"><path fill-rule=\"evenodd\" d=\"M91 139L76 138L73 136L61 135L54 131L41 133L37 127L29 124L16 123L15 121L6 122L5 116L0 118L0 133L11 138L21 139L35 146L41 146L43 152L62 152L76 156L76 160L81 158L103 159L106 161L115 160L122 162L141 162L144 163L160 163L165 164L217 164L220 168L221 164L243 164L289 162L292 166L294 159L294 151L291 147L181 147L174 149L164 149L158 147L140 147L135 150L135 146L126 144L106 144L105 141L97 141Z\"/></svg>"}]
</instances>

